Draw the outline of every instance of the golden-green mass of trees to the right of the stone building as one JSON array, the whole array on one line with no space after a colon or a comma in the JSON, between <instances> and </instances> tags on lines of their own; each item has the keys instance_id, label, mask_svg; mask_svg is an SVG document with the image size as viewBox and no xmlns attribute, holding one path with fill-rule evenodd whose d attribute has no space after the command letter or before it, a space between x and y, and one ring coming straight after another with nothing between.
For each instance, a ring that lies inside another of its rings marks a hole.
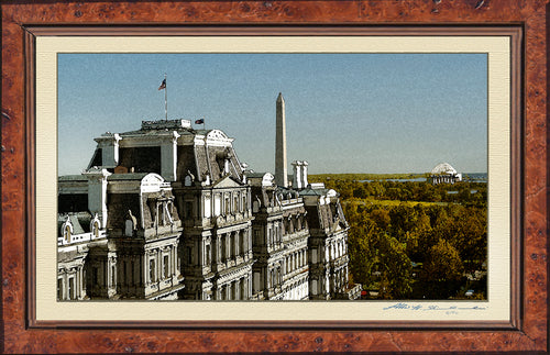
<instances>
[{"instance_id":1,"label":"golden-green mass of trees to the right of the stone building","mask_svg":"<svg viewBox=\"0 0 550 355\"><path fill-rule=\"evenodd\" d=\"M317 181L340 192L350 277L376 298L486 299L486 277L468 278L487 258L486 184Z\"/></svg>"}]
</instances>

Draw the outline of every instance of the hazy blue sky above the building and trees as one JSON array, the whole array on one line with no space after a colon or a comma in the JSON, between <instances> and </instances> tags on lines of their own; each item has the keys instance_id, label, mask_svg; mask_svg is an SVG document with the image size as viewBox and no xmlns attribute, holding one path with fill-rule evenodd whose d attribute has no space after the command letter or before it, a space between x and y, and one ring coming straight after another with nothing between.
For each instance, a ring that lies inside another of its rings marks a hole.
<instances>
[{"instance_id":1,"label":"hazy blue sky above the building and trees","mask_svg":"<svg viewBox=\"0 0 550 355\"><path fill-rule=\"evenodd\" d=\"M205 118L256 171L274 170L278 92L288 162L311 174L487 169L485 54L59 54L59 175L94 137L164 119L165 73L168 118Z\"/></svg>"}]
</instances>

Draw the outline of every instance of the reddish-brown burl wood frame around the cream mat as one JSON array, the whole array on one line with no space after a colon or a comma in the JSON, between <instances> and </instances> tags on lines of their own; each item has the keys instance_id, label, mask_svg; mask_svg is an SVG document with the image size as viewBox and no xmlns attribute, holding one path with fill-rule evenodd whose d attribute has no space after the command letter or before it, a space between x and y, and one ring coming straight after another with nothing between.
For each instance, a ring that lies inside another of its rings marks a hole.
<instances>
[{"instance_id":1,"label":"reddish-brown burl wood frame around the cream mat","mask_svg":"<svg viewBox=\"0 0 550 355\"><path fill-rule=\"evenodd\" d=\"M3 353L549 350L547 1L3 1L1 5ZM510 37L508 321L36 321L35 38L224 33Z\"/></svg>"}]
</instances>

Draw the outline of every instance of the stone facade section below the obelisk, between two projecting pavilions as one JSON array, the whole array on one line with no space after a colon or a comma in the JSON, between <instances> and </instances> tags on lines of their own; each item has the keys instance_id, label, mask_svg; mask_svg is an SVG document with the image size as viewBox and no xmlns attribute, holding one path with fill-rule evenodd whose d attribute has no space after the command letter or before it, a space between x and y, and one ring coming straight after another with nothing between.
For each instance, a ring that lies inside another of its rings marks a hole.
<instances>
[{"instance_id":1,"label":"stone facade section below the obelisk, between two projecting pavilions","mask_svg":"<svg viewBox=\"0 0 550 355\"><path fill-rule=\"evenodd\" d=\"M277 187L270 174L251 174L254 299L309 298L309 230L304 200Z\"/></svg>"}]
</instances>

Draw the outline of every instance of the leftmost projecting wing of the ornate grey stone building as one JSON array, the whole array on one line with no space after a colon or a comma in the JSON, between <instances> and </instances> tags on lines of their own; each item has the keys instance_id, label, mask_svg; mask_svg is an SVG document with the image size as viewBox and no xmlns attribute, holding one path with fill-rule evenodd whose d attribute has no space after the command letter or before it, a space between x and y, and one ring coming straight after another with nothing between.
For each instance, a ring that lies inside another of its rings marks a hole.
<instances>
[{"instance_id":1,"label":"leftmost projecting wing of the ornate grey stone building","mask_svg":"<svg viewBox=\"0 0 550 355\"><path fill-rule=\"evenodd\" d=\"M57 240L58 298L176 299L184 288L177 258L183 229L169 184L154 173L92 168L82 176L88 180L59 179L59 209L94 201L92 186L102 176L105 201L96 202L109 213L105 219L97 212L94 218L86 211L59 213L59 222L67 219Z\"/></svg>"}]
</instances>

